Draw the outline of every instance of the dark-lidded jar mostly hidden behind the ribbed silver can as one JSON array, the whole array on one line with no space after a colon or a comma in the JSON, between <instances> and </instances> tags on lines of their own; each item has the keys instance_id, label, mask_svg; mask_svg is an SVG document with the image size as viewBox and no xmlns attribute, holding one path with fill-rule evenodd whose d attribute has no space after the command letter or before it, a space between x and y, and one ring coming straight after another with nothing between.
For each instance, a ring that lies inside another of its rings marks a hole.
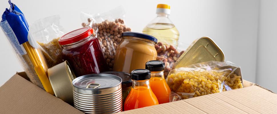
<instances>
[{"instance_id":1,"label":"dark-lidded jar mostly hidden behind the ribbed silver can","mask_svg":"<svg viewBox=\"0 0 277 114\"><path fill-rule=\"evenodd\" d=\"M124 107L124 102L127 96L129 95L133 82L131 80L131 75L126 72L117 72L117 71L108 71L108 72L101 72L101 74L113 74L115 76L119 76L122 79L122 107ZM123 109L124 110L124 109Z\"/></svg>"}]
</instances>

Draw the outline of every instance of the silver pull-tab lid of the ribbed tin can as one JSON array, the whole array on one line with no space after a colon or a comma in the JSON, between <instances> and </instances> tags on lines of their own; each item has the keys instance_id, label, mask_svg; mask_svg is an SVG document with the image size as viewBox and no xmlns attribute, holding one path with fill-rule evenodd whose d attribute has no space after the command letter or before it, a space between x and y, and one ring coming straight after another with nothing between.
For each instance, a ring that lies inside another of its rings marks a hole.
<instances>
[{"instance_id":1,"label":"silver pull-tab lid of the ribbed tin can","mask_svg":"<svg viewBox=\"0 0 277 114\"><path fill-rule=\"evenodd\" d=\"M107 89L121 84L122 79L112 74L89 74L72 81L74 87L80 89Z\"/></svg>"}]
</instances>

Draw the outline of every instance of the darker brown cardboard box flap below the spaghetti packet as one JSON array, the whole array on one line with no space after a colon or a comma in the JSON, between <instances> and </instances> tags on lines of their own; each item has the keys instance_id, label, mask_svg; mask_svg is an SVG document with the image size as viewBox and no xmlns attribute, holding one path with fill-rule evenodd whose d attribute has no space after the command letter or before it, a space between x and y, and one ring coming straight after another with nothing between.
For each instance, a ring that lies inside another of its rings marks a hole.
<instances>
[{"instance_id":1,"label":"darker brown cardboard box flap below the spaghetti packet","mask_svg":"<svg viewBox=\"0 0 277 114\"><path fill-rule=\"evenodd\" d=\"M17 74L0 87L0 101L3 114L83 114Z\"/></svg>"}]
</instances>

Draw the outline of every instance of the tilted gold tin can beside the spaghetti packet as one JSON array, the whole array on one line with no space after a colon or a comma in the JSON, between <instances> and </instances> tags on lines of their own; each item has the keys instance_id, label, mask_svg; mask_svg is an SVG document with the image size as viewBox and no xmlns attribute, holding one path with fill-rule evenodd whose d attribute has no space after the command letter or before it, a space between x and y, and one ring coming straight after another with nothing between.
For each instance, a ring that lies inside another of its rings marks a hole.
<instances>
[{"instance_id":1,"label":"tilted gold tin can beside the spaghetti packet","mask_svg":"<svg viewBox=\"0 0 277 114\"><path fill-rule=\"evenodd\" d=\"M67 61L47 70L55 96L73 105L72 81L76 78Z\"/></svg>"}]
</instances>

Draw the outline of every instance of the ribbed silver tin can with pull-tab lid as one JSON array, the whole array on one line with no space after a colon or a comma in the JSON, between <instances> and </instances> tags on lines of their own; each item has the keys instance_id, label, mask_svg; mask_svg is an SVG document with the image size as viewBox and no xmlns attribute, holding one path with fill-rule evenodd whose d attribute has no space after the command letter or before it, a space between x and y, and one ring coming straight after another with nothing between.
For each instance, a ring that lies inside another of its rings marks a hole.
<instances>
[{"instance_id":1,"label":"ribbed silver tin can with pull-tab lid","mask_svg":"<svg viewBox=\"0 0 277 114\"><path fill-rule=\"evenodd\" d=\"M122 111L122 79L112 74L89 74L72 81L74 107L87 114Z\"/></svg>"}]
</instances>

